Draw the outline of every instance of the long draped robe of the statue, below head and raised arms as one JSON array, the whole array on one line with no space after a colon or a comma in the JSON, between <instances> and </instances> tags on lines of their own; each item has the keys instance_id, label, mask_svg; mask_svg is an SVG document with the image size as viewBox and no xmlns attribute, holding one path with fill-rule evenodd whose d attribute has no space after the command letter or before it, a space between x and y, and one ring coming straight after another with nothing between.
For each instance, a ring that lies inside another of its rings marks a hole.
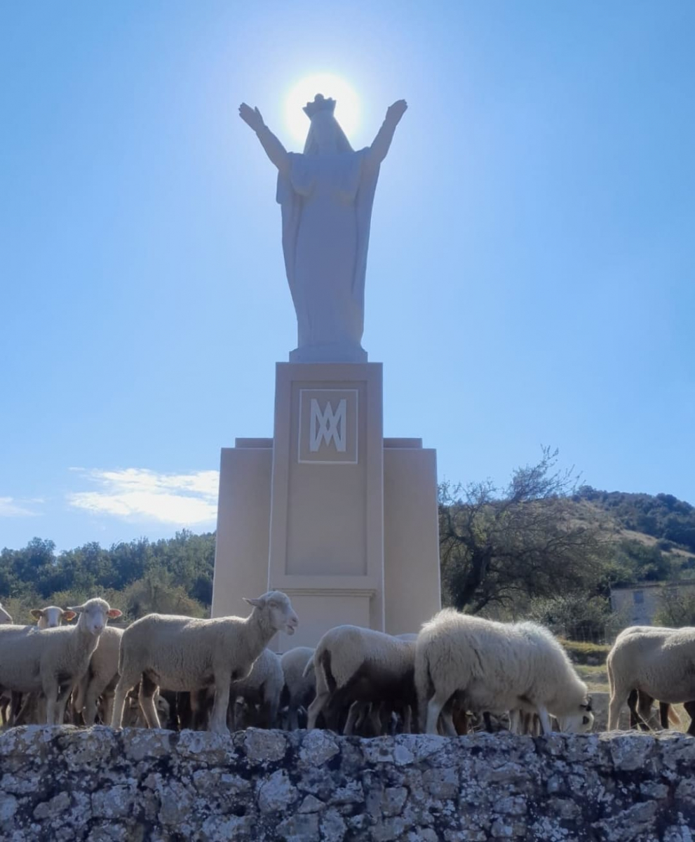
<instances>
[{"instance_id":1,"label":"long draped robe of the statue, below head and raised arms","mask_svg":"<svg viewBox=\"0 0 695 842\"><path fill-rule=\"evenodd\" d=\"M284 263L297 313L299 349L358 359L364 276L379 166L369 149L332 155L289 152L279 174ZM332 361L326 358L326 361Z\"/></svg>"}]
</instances>

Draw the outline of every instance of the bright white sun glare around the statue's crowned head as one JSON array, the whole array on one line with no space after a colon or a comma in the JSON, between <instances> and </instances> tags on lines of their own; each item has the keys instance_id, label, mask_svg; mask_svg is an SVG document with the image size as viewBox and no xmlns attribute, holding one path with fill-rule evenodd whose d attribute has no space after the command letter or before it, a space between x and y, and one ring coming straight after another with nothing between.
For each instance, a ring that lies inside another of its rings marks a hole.
<instances>
[{"instance_id":1,"label":"bright white sun glare around the statue's crowned head","mask_svg":"<svg viewBox=\"0 0 695 842\"><path fill-rule=\"evenodd\" d=\"M309 131L309 118L302 109L317 93L322 93L326 99L336 100L336 120L352 142L359 125L358 95L344 79L332 73L305 76L289 89L284 101L284 120L292 139L304 144Z\"/></svg>"}]
</instances>

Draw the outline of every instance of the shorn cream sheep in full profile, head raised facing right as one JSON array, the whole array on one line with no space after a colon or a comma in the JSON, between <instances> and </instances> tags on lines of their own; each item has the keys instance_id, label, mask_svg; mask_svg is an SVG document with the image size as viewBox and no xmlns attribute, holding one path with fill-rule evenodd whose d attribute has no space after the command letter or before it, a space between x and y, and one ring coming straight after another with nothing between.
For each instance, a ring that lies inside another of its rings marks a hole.
<instances>
[{"instance_id":1,"label":"shorn cream sheep in full profile, head raised facing right","mask_svg":"<svg viewBox=\"0 0 695 842\"><path fill-rule=\"evenodd\" d=\"M246 678L276 632L292 635L299 624L282 591L268 591L246 601L253 610L243 620L149 614L129 626L121 638L112 727L120 727L125 694L141 681L140 704L149 727L159 727L152 702L158 686L194 691L215 685L210 730L229 733L226 715L231 681Z\"/></svg>"}]
</instances>

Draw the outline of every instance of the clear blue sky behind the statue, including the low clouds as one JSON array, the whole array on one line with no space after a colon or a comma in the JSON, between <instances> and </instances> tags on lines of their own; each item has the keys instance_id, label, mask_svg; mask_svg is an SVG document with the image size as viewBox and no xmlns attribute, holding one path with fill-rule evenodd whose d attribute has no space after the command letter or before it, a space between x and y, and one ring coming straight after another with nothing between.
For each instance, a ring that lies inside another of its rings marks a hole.
<instances>
[{"instance_id":1,"label":"clear blue sky behind the statue, including the low clouds","mask_svg":"<svg viewBox=\"0 0 695 842\"><path fill-rule=\"evenodd\" d=\"M385 434L505 483L560 448L695 504L695 5L0 7L0 546L215 525L294 348L274 173L236 115L345 78L381 170ZM324 91L330 95L331 91Z\"/></svg>"}]
</instances>

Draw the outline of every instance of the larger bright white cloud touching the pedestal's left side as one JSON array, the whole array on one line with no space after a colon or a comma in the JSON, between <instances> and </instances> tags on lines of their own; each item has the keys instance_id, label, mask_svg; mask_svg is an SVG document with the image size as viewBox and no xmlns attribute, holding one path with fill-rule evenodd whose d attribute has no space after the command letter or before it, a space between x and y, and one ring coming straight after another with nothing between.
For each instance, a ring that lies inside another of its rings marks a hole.
<instances>
[{"instance_id":1,"label":"larger bright white cloud touching the pedestal's left side","mask_svg":"<svg viewBox=\"0 0 695 842\"><path fill-rule=\"evenodd\" d=\"M179 526L210 523L217 516L219 474L216 471L165 474L146 468L72 470L96 486L93 491L68 495L68 503L76 509L124 520L158 520Z\"/></svg>"}]
</instances>

